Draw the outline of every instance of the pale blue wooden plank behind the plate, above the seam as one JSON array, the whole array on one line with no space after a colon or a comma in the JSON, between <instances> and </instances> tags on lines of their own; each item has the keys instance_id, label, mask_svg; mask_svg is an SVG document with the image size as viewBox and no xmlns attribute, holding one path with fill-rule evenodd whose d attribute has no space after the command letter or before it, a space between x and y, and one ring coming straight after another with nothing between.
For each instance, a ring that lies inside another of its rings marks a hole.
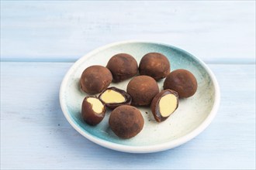
<instances>
[{"instance_id":1,"label":"pale blue wooden plank behind the plate, above the seam","mask_svg":"<svg viewBox=\"0 0 256 170\"><path fill-rule=\"evenodd\" d=\"M178 46L207 63L255 63L255 1L3 1L2 61L74 62L109 42Z\"/></svg>"}]
</instances>

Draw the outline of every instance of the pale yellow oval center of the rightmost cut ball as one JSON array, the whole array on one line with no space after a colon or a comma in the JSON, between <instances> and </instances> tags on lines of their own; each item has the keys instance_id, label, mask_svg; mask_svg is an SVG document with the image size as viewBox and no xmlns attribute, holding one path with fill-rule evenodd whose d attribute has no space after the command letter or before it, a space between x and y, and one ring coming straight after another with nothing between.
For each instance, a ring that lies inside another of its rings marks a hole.
<instances>
[{"instance_id":1,"label":"pale yellow oval center of the rightmost cut ball","mask_svg":"<svg viewBox=\"0 0 256 170\"><path fill-rule=\"evenodd\" d=\"M174 94L167 94L161 97L159 101L159 109L162 117L168 117L177 107L177 98Z\"/></svg>"}]
</instances>

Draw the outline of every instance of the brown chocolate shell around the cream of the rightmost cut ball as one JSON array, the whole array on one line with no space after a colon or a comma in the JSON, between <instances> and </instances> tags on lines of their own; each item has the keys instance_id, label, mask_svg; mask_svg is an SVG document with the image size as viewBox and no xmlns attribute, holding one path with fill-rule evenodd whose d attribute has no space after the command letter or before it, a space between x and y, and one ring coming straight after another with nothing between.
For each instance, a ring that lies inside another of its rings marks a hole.
<instances>
[{"instance_id":1,"label":"brown chocolate shell around the cream of the rightmost cut ball","mask_svg":"<svg viewBox=\"0 0 256 170\"><path fill-rule=\"evenodd\" d=\"M159 108L159 101L161 100L161 97L164 97L168 93L172 93L177 97L178 101L178 93L175 90L163 90L160 93L157 93L157 95L154 97L154 99L151 102L150 109L152 111L152 114L154 115L154 119L158 122L165 121L168 117L162 117L160 113L160 108ZM177 107L178 108L178 102L177 102ZM171 115L171 114L170 114Z\"/></svg>"}]
</instances>

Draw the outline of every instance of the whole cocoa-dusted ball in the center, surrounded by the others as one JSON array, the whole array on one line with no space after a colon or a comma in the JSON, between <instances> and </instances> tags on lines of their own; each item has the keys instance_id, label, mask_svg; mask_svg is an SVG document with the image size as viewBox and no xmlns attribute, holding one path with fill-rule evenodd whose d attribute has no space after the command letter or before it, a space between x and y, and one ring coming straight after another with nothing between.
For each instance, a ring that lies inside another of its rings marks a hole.
<instances>
[{"instance_id":1,"label":"whole cocoa-dusted ball in the center, surrounded by the others","mask_svg":"<svg viewBox=\"0 0 256 170\"><path fill-rule=\"evenodd\" d=\"M147 106L159 93L159 87L156 80L150 76L135 76L128 83L126 91L132 97L133 106Z\"/></svg>"}]
</instances>

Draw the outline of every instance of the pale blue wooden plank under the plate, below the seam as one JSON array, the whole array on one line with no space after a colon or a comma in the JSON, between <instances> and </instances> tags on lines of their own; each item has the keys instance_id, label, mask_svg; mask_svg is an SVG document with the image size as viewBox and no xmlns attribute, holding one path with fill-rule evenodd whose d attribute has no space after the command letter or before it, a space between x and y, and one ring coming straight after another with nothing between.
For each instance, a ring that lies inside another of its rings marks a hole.
<instances>
[{"instance_id":1,"label":"pale blue wooden plank under the plate, below the seam","mask_svg":"<svg viewBox=\"0 0 256 170\"><path fill-rule=\"evenodd\" d=\"M95 145L67 123L61 80L72 63L1 63L1 169L255 169L255 65L209 65L220 110L185 145L135 155Z\"/></svg>"}]
</instances>

